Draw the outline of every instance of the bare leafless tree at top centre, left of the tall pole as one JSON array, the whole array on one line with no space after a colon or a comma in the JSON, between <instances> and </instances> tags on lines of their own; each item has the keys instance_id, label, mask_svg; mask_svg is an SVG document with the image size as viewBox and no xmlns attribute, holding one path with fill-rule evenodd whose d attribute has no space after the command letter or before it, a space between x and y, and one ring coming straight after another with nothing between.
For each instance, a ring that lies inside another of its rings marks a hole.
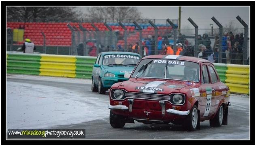
<instances>
[{"instance_id":1,"label":"bare leafless tree at top centre, left of the tall pole","mask_svg":"<svg viewBox=\"0 0 256 146\"><path fill-rule=\"evenodd\" d=\"M103 21L104 19L111 19L113 22L122 21L128 22L128 19L141 19L141 12L136 7L132 6L107 6L107 7L89 7L87 8L85 17L92 21Z\"/></svg>"}]
</instances>

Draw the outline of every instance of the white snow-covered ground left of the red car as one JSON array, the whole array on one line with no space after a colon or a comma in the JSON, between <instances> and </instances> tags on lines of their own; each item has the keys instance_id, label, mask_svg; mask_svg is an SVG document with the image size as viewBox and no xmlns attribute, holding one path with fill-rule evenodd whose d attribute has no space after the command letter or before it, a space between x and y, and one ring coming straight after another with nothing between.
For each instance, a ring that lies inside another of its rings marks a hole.
<instances>
[{"instance_id":1,"label":"white snow-covered ground left of the red car","mask_svg":"<svg viewBox=\"0 0 256 146\"><path fill-rule=\"evenodd\" d=\"M10 81L6 89L7 129L49 128L109 116L108 100L68 89Z\"/></svg>"}]
</instances>

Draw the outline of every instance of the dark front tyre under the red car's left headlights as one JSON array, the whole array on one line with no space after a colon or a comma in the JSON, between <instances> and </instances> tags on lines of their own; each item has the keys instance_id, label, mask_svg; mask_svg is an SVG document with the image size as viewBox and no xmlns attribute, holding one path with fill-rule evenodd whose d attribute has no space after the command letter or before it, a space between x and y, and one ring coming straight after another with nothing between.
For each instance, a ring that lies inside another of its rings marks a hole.
<instances>
[{"instance_id":1,"label":"dark front tyre under the red car's left headlights","mask_svg":"<svg viewBox=\"0 0 256 146\"><path fill-rule=\"evenodd\" d=\"M112 110L110 110L109 114L109 122L113 128L123 128L125 125L126 118L122 115L114 114Z\"/></svg>"}]
</instances>

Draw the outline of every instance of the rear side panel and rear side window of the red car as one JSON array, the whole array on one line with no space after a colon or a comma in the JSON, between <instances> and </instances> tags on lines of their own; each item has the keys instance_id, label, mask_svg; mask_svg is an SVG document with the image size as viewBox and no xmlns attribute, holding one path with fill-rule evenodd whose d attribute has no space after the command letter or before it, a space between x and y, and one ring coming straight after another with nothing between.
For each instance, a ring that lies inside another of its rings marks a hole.
<instances>
[{"instance_id":1,"label":"rear side panel and rear side window of the red car","mask_svg":"<svg viewBox=\"0 0 256 146\"><path fill-rule=\"evenodd\" d=\"M209 64L207 65L209 75L210 75L210 80L211 80L211 87L212 87L212 104L211 104L211 114L215 114L218 110L218 105L221 100L222 96L222 89L219 87L221 83L219 82L219 78L217 76L217 72L215 71L213 65Z\"/></svg>"}]
</instances>

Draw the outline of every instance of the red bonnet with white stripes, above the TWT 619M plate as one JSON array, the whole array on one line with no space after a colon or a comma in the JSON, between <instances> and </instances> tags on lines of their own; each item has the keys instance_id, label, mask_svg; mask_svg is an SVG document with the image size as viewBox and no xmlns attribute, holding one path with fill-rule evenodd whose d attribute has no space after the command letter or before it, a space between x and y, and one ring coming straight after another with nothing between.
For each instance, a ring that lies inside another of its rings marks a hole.
<instances>
[{"instance_id":1,"label":"red bonnet with white stripes, above the TWT 619M plate","mask_svg":"<svg viewBox=\"0 0 256 146\"><path fill-rule=\"evenodd\" d=\"M130 78L130 80L122 82L118 88L125 89L128 92L171 94L173 92L179 93L184 87L187 91L198 86L186 81Z\"/></svg>"}]
</instances>

